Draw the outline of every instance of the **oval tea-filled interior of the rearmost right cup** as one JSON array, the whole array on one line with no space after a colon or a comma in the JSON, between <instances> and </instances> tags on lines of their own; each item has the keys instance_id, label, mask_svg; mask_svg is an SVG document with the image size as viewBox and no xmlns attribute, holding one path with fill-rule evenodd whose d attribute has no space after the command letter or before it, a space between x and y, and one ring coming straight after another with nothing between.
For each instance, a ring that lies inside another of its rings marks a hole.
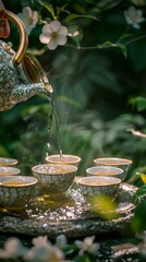
<instances>
[{"instance_id":1,"label":"oval tea-filled interior of the rearmost right cup","mask_svg":"<svg viewBox=\"0 0 146 262\"><path fill-rule=\"evenodd\" d=\"M95 164L106 165L106 166L122 166L122 165L131 165L132 160L120 157L102 157L94 159Z\"/></svg>"}]
</instances>

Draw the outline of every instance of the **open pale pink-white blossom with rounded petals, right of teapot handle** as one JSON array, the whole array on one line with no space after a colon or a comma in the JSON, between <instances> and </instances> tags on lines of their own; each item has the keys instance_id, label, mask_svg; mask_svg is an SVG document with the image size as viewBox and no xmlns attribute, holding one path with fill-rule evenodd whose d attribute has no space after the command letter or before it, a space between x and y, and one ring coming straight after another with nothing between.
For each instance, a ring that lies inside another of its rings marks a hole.
<instances>
[{"instance_id":1,"label":"open pale pink-white blossom with rounded petals, right of teapot handle","mask_svg":"<svg viewBox=\"0 0 146 262\"><path fill-rule=\"evenodd\" d=\"M42 27L42 34L39 39L42 44L47 44L50 50L54 50L58 46L66 43L68 28L62 26L59 21L52 21Z\"/></svg>"}]
</instances>

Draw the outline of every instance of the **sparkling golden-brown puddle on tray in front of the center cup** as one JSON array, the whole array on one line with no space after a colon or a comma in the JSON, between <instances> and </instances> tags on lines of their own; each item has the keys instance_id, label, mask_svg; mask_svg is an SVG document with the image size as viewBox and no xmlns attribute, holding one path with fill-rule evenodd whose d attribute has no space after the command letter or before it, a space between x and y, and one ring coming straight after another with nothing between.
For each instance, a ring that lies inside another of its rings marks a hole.
<instances>
[{"instance_id":1,"label":"sparkling golden-brown puddle on tray in front of the center cup","mask_svg":"<svg viewBox=\"0 0 146 262\"><path fill-rule=\"evenodd\" d=\"M29 218L49 217L50 221L70 221L90 217L89 204L78 190L70 189L58 196L35 198L26 209Z\"/></svg>"}]
</instances>

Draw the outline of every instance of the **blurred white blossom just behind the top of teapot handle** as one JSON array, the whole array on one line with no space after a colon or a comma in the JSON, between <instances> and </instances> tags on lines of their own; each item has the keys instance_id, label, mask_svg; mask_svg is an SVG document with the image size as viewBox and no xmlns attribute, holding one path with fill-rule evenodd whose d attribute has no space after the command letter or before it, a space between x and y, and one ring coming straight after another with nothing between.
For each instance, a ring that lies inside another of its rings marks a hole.
<instances>
[{"instance_id":1,"label":"blurred white blossom just behind the top of teapot handle","mask_svg":"<svg viewBox=\"0 0 146 262\"><path fill-rule=\"evenodd\" d=\"M25 7L23 8L22 13L19 13L17 15L24 23L26 32L29 35L38 22L38 12L32 10L29 7Z\"/></svg>"}]
</instances>

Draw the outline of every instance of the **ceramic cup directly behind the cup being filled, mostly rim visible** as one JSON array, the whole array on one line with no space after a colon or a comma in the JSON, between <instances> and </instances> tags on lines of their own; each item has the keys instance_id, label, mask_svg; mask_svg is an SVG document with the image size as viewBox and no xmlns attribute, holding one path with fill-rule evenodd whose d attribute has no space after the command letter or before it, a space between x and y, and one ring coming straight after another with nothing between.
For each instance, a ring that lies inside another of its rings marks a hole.
<instances>
[{"instance_id":1,"label":"ceramic cup directly behind the cup being filled, mostly rim visible","mask_svg":"<svg viewBox=\"0 0 146 262\"><path fill-rule=\"evenodd\" d=\"M50 164L60 164L60 165L73 165L78 166L81 157L76 155L49 155L46 157L46 160Z\"/></svg>"}]
</instances>

